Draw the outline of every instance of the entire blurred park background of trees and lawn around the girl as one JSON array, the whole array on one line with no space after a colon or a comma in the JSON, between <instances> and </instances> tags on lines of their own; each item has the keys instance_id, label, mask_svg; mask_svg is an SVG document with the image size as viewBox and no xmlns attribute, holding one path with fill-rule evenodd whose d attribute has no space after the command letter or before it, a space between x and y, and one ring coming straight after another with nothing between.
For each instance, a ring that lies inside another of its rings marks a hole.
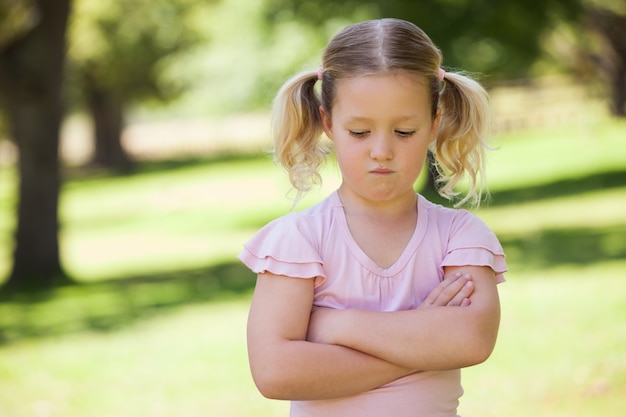
<instances>
[{"instance_id":1,"label":"entire blurred park background of trees and lawn around the girl","mask_svg":"<svg viewBox=\"0 0 626 417\"><path fill-rule=\"evenodd\" d=\"M460 411L621 416L626 1L0 0L0 417L287 415L249 376L235 259L292 206L268 112L380 17L492 99L476 213L511 271Z\"/></svg>"}]
</instances>

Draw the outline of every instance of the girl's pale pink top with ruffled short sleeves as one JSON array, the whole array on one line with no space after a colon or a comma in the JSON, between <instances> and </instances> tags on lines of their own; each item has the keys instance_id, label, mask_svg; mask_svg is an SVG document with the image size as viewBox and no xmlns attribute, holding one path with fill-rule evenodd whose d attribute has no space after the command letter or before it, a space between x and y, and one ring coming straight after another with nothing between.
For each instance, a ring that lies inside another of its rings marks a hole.
<instances>
[{"instance_id":1,"label":"girl's pale pink top with ruffled short sleeves","mask_svg":"<svg viewBox=\"0 0 626 417\"><path fill-rule=\"evenodd\" d=\"M478 217L421 195L417 206L415 232L389 268L379 267L352 238L336 192L266 225L239 259L256 273L315 279L314 304L332 308L415 309L443 279L444 266L488 266L497 282L504 281L502 246ZM291 416L450 417L462 394L460 370L418 372L353 397L293 401Z\"/></svg>"}]
</instances>

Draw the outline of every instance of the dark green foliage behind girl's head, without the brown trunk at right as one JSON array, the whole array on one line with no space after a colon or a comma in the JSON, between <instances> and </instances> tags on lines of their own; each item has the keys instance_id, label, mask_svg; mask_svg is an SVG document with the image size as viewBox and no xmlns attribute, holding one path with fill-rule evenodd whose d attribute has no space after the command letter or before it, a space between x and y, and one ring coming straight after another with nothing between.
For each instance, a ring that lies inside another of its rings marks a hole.
<instances>
[{"instance_id":1,"label":"dark green foliage behind girl's head, without the brown trunk at right","mask_svg":"<svg viewBox=\"0 0 626 417\"><path fill-rule=\"evenodd\" d=\"M421 27L443 51L444 66L489 74L528 75L543 36L558 19L575 19L580 0L269 0L270 21L290 15L319 25L365 5L372 18L398 17Z\"/></svg>"}]
</instances>

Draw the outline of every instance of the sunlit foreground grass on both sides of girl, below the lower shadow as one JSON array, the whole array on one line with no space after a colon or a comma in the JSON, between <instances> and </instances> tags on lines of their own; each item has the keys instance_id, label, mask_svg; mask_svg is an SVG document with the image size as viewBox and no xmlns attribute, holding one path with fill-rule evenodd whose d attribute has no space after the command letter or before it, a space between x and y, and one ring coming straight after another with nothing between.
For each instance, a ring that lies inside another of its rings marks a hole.
<instances>
[{"instance_id":1,"label":"sunlit foreground grass on both sides of girl, below the lower shadow","mask_svg":"<svg viewBox=\"0 0 626 417\"><path fill-rule=\"evenodd\" d=\"M619 416L626 388L626 262L510 274L496 351L465 371L461 411ZM0 416L285 416L247 369L247 297L184 307L114 332L2 348Z\"/></svg>"}]
</instances>

